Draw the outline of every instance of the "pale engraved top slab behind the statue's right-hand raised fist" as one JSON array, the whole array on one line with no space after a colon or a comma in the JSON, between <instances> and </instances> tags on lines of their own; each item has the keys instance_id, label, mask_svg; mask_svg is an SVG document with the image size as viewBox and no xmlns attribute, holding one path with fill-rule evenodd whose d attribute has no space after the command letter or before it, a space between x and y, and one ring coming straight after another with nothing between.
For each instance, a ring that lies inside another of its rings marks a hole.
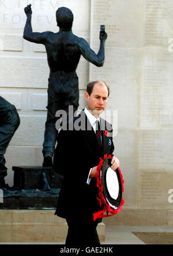
<instances>
[{"instance_id":1,"label":"pale engraved top slab behind the statue's right-hand raised fist","mask_svg":"<svg viewBox=\"0 0 173 256\"><path fill-rule=\"evenodd\" d=\"M143 29L144 1L92 0L91 38L92 46L97 46L99 26L106 25L109 38L106 47L140 47Z\"/></svg>"}]
</instances>

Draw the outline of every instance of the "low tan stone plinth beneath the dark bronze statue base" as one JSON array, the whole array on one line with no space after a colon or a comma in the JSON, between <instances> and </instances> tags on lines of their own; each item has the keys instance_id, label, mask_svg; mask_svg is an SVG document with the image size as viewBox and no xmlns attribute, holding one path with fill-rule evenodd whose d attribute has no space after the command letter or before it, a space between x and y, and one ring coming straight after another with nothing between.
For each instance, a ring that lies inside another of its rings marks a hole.
<instances>
[{"instance_id":1,"label":"low tan stone plinth beneath the dark bronze statue base","mask_svg":"<svg viewBox=\"0 0 173 256\"><path fill-rule=\"evenodd\" d=\"M0 242L65 242L66 220L55 210L0 210ZM97 226L100 241L105 225Z\"/></svg>"}]
</instances>

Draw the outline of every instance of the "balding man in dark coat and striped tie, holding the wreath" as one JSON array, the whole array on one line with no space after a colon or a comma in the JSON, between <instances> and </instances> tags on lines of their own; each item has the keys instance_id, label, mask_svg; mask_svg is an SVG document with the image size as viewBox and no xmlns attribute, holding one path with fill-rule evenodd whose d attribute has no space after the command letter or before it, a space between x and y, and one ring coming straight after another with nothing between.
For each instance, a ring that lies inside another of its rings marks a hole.
<instances>
[{"instance_id":1,"label":"balding man in dark coat and striped tie, holding the wreath","mask_svg":"<svg viewBox=\"0 0 173 256\"><path fill-rule=\"evenodd\" d=\"M104 154L113 156L114 151L112 127L99 116L106 108L109 93L105 82L89 83L85 93L87 107L58 135L53 166L63 175L63 182L55 215L66 218L69 226L66 245L100 244L96 226L102 219L93 221L93 213L101 210L96 198L96 167ZM115 157L111 163L114 170L119 166Z\"/></svg>"}]
</instances>

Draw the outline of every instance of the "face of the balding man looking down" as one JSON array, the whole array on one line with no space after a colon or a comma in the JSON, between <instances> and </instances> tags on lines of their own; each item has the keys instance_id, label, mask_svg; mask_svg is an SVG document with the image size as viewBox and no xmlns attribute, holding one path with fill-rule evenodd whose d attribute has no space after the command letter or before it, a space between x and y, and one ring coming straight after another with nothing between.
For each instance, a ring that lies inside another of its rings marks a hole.
<instances>
[{"instance_id":1,"label":"face of the balding man looking down","mask_svg":"<svg viewBox=\"0 0 173 256\"><path fill-rule=\"evenodd\" d=\"M91 110L93 114L100 115L107 105L108 90L103 83L95 83L91 95L86 92L85 99L87 102L87 109Z\"/></svg>"}]
</instances>

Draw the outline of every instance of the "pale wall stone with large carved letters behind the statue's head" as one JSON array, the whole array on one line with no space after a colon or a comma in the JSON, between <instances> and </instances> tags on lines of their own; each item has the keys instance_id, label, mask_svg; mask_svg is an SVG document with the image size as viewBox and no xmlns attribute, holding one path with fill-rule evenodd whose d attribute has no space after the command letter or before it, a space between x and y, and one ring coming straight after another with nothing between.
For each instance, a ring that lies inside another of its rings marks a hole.
<instances>
[{"instance_id":1,"label":"pale wall stone with large carved letters behind the statue's head","mask_svg":"<svg viewBox=\"0 0 173 256\"><path fill-rule=\"evenodd\" d=\"M55 19L55 12L61 6L66 6L72 9L74 17L74 30L88 31L88 19L89 19L89 1L58 1L58 0L2 0L0 3L1 19L0 28L10 29L23 29L25 25L26 15L24 13L24 7L32 4L33 17L32 24L35 30L56 30L57 23ZM80 10L81 16L77 19L78 10Z\"/></svg>"}]
</instances>

